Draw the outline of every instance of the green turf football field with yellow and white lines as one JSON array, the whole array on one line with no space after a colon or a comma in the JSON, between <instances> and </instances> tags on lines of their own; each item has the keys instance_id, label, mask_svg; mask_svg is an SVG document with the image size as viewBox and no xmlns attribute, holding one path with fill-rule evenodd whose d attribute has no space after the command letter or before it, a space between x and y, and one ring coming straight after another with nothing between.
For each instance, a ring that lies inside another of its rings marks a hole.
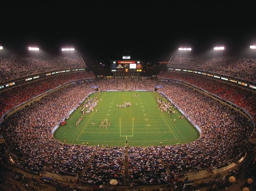
<instances>
[{"instance_id":1,"label":"green turf football field with yellow and white lines","mask_svg":"<svg viewBox=\"0 0 256 191\"><path fill-rule=\"evenodd\" d=\"M133 97L133 94L139 94L139 97ZM187 119L179 119L180 112L170 118L167 112L162 114L158 110L156 96L160 95L157 92L141 91L101 92L98 100L102 101L99 101L93 112L85 115L75 127L81 116L78 108L71 115L73 119L70 117L66 120L67 125L60 126L54 137L62 142L65 139L70 144L89 142L89 145L100 146L124 146L126 138L128 146L155 146L160 142L162 145L183 144L196 140L199 137L198 131ZM124 102L131 102L132 106L116 107L116 104ZM111 121L110 128L99 127L104 119ZM173 119L176 119L175 124ZM95 126L91 123L95 123Z\"/></svg>"}]
</instances>

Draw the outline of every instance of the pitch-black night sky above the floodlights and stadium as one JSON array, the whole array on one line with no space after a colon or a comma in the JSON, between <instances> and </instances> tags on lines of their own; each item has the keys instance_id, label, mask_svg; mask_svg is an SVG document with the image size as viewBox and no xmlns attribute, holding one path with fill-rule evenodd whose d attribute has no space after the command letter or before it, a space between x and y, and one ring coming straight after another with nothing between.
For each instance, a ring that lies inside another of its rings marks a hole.
<instances>
[{"instance_id":1,"label":"pitch-black night sky above the floodlights and stadium","mask_svg":"<svg viewBox=\"0 0 256 191\"><path fill-rule=\"evenodd\" d=\"M202 53L215 45L239 52L256 43L253 1L1 2L0 45L51 54L70 45L85 60L168 60L179 46Z\"/></svg>"}]
</instances>

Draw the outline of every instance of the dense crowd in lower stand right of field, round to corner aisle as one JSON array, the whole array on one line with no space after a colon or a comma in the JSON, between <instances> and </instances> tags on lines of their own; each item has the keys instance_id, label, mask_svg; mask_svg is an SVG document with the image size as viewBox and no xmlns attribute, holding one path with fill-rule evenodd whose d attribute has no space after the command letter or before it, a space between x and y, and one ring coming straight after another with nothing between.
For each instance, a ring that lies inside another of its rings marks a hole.
<instances>
[{"instance_id":1,"label":"dense crowd in lower stand right of field, round to corner aisle","mask_svg":"<svg viewBox=\"0 0 256 191\"><path fill-rule=\"evenodd\" d=\"M238 112L182 84L166 83L161 91L202 129L197 141L158 147L170 171L214 168L251 150L253 124Z\"/></svg>"}]
</instances>

